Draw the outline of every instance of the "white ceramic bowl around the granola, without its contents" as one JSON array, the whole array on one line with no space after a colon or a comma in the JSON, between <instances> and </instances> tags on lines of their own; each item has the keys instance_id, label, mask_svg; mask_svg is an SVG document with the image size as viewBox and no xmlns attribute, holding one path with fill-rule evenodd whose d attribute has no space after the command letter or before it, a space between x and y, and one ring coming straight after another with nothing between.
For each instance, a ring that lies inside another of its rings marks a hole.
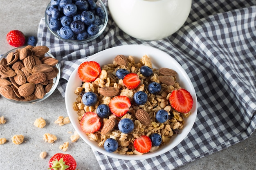
<instances>
[{"instance_id":1,"label":"white ceramic bowl around the granola, without its contents","mask_svg":"<svg viewBox=\"0 0 256 170\"><path fill-rule=\"evenodd\" d=\"M150 57L151 62L153 63L153 68L167 67L177 72L177 75L176 75L177 82L180 82L180 85L191 93L194 101L192 114L188 118L185 118L186 123L184 124L184 129L180 130L179 135L172 137L169 144L166 144L165 146L161 146L157 151L148 152L143 155L121 155L118 153L106 152L106 150L104 150L103 147L99 147L97 142L91 141L88 138L88 136L81 130L79 121L78 121L77 112L73 110L72 104L73 102L76 101L76 97L77 97L74 94L74 91L76 87L81 86L81 80L79 78L79 75L77 74L78 68L74 70L74 72L70 76L70 79L67 82L67 87L65 92L65 104L67 108L67 113L70 117L70 121L72 125L74 126L75 130L78 132L80 137L88 145L90 145L94 150L97 150L110 157L114 157L117 159L125 159L125 160L139 160L139 159L148 159L151 157L156 157L158 155L161 155L167 152L168 150L171 150L172 148L177 146L177 144L180 144L180 142L190 132L197 115L197 97L195 94L195 89L192 85L191 80L189 79L189 76L177 61L175 61L170 55L164 53L163 51L160 51L159 49L155 49L150 46L144 46L144 45L117 46L117 47L113 47L113 48L101 51L99 53L96 53L91 57L89 57L87 61L96 61L101 66L103 66L103 64L112 63L115 56L119 54L123 54L125 56L132 55L133 57L135 57L135 61L137 60L137 62L143 55L146 54L148 55L148 57Z\"/></svg>"}]
</instances>

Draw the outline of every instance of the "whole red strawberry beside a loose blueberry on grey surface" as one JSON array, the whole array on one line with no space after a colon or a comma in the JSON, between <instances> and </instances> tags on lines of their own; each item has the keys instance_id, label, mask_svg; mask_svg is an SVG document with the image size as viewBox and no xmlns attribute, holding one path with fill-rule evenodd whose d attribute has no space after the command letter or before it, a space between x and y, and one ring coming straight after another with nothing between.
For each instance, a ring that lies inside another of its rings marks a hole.
<instances>
[{"instance_id":1,"label":"whole red strawberry beside a loose blueberry on grey surface","mask_svg":"<svg viewBox=\"0 0 256 170\"><path fill-rule=\"evenodd\" d=\"M6 36L8 44L14 47L23 46L26 42L25 35L19 30L12 30Z\"/></svg>"}]
</instances>

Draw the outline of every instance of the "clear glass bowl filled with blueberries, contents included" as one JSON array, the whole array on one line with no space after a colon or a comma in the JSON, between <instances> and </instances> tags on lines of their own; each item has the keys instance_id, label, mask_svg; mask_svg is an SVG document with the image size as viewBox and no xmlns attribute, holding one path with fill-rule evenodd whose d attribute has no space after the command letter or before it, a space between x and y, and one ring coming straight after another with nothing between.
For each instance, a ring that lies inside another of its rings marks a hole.
<instances>
[{"instance_id":1,"label":"clear glass bowl filled with blueberries, contents included","mask_svg":"<svg viewBox=\"0 0 256 170\"><path fill-rule=\"evenodd\" d=\"M104 32L108 10L101 0L51 0L45 10L45 23L60 40L86 43Z\"/></svg>"}]
</instances>

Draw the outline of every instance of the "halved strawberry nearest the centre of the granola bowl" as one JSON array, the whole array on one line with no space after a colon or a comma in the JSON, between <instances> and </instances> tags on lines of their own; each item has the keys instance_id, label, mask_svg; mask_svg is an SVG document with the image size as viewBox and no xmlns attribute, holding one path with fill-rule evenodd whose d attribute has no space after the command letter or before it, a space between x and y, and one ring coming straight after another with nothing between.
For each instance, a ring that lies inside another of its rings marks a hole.
<instances>
[{"instance_id":1,"label":"halved strawberry nearest the centre of the granola bowl","mask_svg":"<svg viewBox=\"0 0 256 170\"><path fill-rule=\"evenodd\" d=\"M131 102L126 96L116 96L110 100L108 106L114 115L117 117L122 117L128 112Z\"/></svg>"}]
</instances>

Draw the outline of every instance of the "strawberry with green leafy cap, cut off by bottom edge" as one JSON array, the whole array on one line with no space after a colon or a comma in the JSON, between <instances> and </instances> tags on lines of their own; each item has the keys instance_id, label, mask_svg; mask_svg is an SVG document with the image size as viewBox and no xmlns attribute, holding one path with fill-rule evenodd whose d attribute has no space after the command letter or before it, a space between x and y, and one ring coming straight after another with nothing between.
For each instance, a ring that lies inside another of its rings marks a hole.
<instances>
[{"instance_id":1,"label":"strawberry with green leafy cap, cut off by bottom edge","mask_svg":"<svg viewBox=\"0 0 256 170\"><path fill-rule=\"evenodd\" d=\"M49 160L51 170L76 170L76 160L69 154L56 153Z\"/></svg>"}]
</instances>

